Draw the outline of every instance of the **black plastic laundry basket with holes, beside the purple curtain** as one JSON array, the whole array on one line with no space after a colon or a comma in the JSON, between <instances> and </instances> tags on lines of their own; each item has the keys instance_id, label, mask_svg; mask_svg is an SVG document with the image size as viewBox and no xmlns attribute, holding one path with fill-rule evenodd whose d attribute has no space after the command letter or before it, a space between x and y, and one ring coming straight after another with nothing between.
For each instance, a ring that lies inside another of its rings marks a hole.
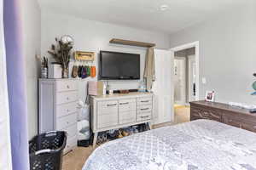
<instances>
[{"instance_id":1,"label":"black plastic laundry basket with holes, beside the purple curtain","mask_svg":"<svg viewBox=\"0 0 256 170\"><path fill-rule=\"evenodd\" d=\"M61 170L67 133L52 131L35 136L29 142L31 170Z\"/></svg>"}]
</instances>

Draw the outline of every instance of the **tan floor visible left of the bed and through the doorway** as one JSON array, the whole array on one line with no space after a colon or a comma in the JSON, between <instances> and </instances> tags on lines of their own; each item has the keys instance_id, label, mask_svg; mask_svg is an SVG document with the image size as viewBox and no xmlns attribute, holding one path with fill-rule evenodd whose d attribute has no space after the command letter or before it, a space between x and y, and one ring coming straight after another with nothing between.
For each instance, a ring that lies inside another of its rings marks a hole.
<instances>
[{"instance_id":1,"label":"tan floor visible left of the bed and through the doorway","mask_svg":"<svg viewBox=\"0 0 256 170\"><path fill-rule=\"evenodd\" d=\"M175 125L181 122L189 122L189 107L183 105L175 105L175 120L174 122L166 122L159 125L154 125L153 128L166 127ZM63 156L62 170L81 170L84 162L90 156L94 149L92 146L84 148L78 147L67 155Z\"/></svg>"}]
</instances>

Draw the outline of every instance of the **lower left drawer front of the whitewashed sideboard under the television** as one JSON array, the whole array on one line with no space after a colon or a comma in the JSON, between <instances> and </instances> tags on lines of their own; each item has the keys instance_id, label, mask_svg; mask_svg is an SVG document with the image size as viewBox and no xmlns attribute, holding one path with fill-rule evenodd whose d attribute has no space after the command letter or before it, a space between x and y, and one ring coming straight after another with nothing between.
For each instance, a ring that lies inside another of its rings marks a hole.
<instances>
[{"instance_id":1,"label":"lower left drawer front of the whitewashed sideboard under the television","mask_svg":"<svg viewBox=\"0 0 256 170\"><path fill-rule=\"evenodd\" d=\"M104 114L97 116L97 127L98 128L105 128L105 127L112 127L118 125L118 112L115 114Z\"/></svg>"}]
</instances>

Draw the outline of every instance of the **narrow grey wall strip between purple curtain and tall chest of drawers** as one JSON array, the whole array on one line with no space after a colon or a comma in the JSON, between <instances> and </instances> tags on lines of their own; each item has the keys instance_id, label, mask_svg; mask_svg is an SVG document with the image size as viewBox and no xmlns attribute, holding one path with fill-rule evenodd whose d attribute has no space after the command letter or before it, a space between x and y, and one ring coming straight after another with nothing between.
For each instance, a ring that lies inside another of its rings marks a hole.
<instances>
[{"instance_id":1,"label":"narrow grey wall strip between purple curtain and tall chest of drawers","mask_svg":"<svg viewBox=\"0 0 256 170\"><path fill-rule=\"evenodd\" d=\"M23 53L26 57L28 129L31 139L38 133L39 67L35 55L40 54L41 51L41 11L36 0L24 0L20 5L22 6Z\"/></svg>"}]
</instances>

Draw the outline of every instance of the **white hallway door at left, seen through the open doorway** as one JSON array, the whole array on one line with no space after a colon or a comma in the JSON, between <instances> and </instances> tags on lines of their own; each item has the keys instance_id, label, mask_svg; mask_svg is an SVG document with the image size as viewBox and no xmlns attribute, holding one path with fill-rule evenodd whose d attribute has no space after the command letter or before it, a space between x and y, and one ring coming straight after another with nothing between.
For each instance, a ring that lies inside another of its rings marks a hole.
<instances>
[{"instance_id":1,"label":"white hallway door at left, seen through the open doorway","mask_svg":"<svg viewBox=\"0 0 256 170\"><path fill-rule=\"evenodd\" d=\"M186 58L174 59L174 103L185 105L186 103Z\"/></svg>"}]
</instances>

